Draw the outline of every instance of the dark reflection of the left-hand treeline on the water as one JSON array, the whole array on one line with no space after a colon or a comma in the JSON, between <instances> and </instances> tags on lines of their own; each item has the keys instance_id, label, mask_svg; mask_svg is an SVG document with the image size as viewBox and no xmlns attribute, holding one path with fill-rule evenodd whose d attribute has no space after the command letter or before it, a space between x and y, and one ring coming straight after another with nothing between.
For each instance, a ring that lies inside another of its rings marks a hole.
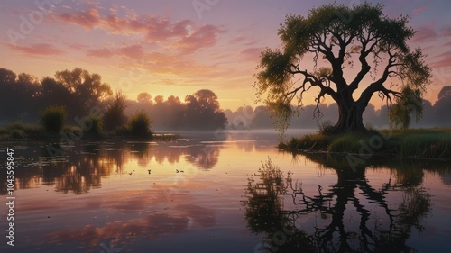
<instances>
[{"instance_id":1,"label":"dark reflection of the left-hand treeline on the water","mask_svg":"<svg viewBox=\"0 0 451 253\"><path fill-rule=\"evenodd\" d=\"M152 160L161 165L182 159L198 169L211 169L216 166L220 148L196 140L89 142L71 147L64 156L49 157L46 147L27 147L14 161L15 189L54 185L60 193L86 194L101 187L102 178L128 173L124 165L133 160L140 168L148 167ZM0 185L6 184L6 176L0 177ZM0 187L0 194L6 194L6 187Z\"/></svg>"}]
</instances>

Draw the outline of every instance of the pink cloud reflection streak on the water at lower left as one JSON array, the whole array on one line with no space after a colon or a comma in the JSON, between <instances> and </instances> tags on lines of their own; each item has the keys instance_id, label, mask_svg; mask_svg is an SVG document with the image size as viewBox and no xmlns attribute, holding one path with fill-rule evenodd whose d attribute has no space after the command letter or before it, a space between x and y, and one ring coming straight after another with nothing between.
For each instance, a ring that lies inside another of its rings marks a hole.
<instances>
[{"instance_id":1,"label":"pink cloud reflection streak on the water at lower left","mask_svg":"<svg viewBox=\"0 0 451 253\"><path fill-rule=\"evenodd\" d=\"M145 203L144 205L154 204ZM143 206L141 210L146 210L146 206ZM168 234L191 230L197 226L212 227L215 223L214 211L197 205L184 204L174 207L171 212L148 212L143 218L107 222L101 227L86 224L77 230L57 230L46 235L45 244L76 241L81 242L84 248L94 248L93 246L99 245L102 241L119 241L119 239L121 243L126 240L127 244L130 244L134 240L157 239ZM126 244L121 247L125 246Z\"/></svg>"}]
</instances>

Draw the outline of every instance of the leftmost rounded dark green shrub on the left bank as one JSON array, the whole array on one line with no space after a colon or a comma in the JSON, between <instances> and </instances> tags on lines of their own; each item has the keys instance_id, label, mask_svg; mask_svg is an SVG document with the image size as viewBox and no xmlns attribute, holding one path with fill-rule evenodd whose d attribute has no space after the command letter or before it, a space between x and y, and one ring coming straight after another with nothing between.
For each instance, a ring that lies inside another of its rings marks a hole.
<instances>
[{"instance_id":1,"label":"leftmost rounded dark green shrub on the left bank","mask_svg":"<svg viewBox=\"0 0 451 253\"><path fill-rule=\"evenodd\" d=\"M45 131L58 133L64 126L68 112L64 106L51 105L42 109L39 115Z\"/></svg>"}]
</instances>

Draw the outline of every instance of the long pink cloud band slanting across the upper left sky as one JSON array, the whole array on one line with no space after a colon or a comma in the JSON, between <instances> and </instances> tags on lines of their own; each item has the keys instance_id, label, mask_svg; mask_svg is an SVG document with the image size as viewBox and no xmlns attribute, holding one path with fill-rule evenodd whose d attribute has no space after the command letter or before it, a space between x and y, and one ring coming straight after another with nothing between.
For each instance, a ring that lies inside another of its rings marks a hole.
<instances>
[{"instance_id":1,"label":"long pink cloud band slanting across the upper left sky","mask_svg":"<svg viewBox=\"0 0 451 253\"><path fill-rule=\"evenodd\" d=\"M86 11L57 14L53 18L53 22L62 21L78 25L87 31L103 29L111 34L143 33L143 42L164 42L165 46L170 45L172 48L179 48L184 53L192 53L214 45L217 35L224 32L223 29L211 24L196 26L196 23L191 20L171 22L167 17L138 15L130 12L122 17L117 15L116 7L104 8L102 12L98 12L98 8L89 5ZM94 50L91 51L91 54L95 56L108 55L105 50Z\"/></svg>"}]
</instances>

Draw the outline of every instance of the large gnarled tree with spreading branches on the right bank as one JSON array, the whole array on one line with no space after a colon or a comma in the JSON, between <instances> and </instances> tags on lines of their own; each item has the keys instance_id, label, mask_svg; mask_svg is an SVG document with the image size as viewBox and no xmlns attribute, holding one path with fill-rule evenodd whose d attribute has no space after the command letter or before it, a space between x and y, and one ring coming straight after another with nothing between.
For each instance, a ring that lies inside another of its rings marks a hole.
<instances>
[{"instance_id":1,"label":"large gnarled tree with spreading branches on the right bank","mask_svg":"<svg viewBox=\"0 0 451 253\"><path fill-rule=\"evenodd\" d=\"M278 33L283 49L262 52L254 85L259 99L267 95L264 103L282 130L296 112L291 104L302 106L309 90L318 91L316 116L325 96L338 105L332 131L365 130L362 115L374 94L387 104L403 92L420 99L431 70L421 49L407 44L416 32L407 26L409 17L389 18L382 10L381 4L330 4L307 17L287 16ZM421 106L411 108L421 113Z\"/></svg>"}]
</instances>

